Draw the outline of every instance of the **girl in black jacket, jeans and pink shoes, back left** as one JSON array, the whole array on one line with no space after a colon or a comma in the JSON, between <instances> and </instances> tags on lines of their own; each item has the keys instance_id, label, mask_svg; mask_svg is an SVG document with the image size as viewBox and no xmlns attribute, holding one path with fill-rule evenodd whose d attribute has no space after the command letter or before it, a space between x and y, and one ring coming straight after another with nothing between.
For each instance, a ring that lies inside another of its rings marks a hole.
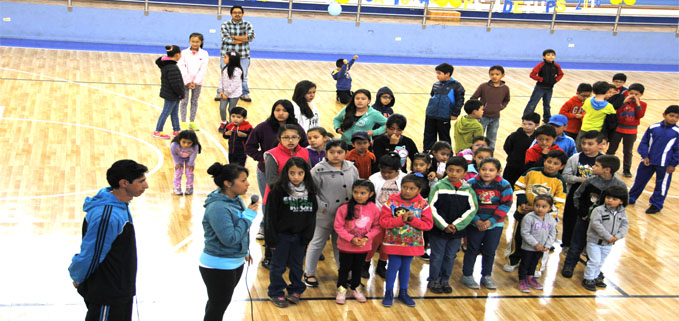
<instances>
[{"instance_id":1,"label":"girl in black jacket, jeans and pink shoes, back left","mask_svg":"<svg viewBox=\"0 0 679 321\"><path fill-rule=\"evenodd\" d=\"M156 65L160 68L160 97L165 99L165 104L160 117L158 117L153 137L169 139L170 136L163 133L163 126L169 115L170 120L172 120L172 135L177 136L179 134L178 110L179 101L184 98L184 80L179 67L177 67L177 61L182 57L181 49L179 49L179 46L170 45L165 46L165 51L167 51L167 56L156 59Z\"/></svg>"}]
</instances>

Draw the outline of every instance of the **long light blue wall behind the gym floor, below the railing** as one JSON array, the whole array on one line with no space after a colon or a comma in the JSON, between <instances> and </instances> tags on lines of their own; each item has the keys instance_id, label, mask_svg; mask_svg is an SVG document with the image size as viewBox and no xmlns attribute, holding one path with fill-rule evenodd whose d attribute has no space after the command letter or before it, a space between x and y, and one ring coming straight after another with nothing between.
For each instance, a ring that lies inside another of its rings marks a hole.
<instances>
[{"instance_id":1,"label":"long light blue wall behind the gym floor, below the railing","mask_svg":"<svg viewBox=\"0 0 679 321\"><path fill-rule=\"evenodd\" d=\"M216 15L112 10L0 2L5 38L62 40L110 44L188 44L191 32L206 36L206 48L218 48ZM331 19L328 16L328 19ZM387 55L425 58L470 58L535 61L553 48L560 62L662 64L679 66L679 39L674 33L579 31L361 23L333 20L246 17L253 23L253 50L321 54ZM210 34L209 29L217 33ZM400 37L401 41L395 41ZM569 47L574 44L574 47ZM159 50L161 52L161 50ZM674 67L673 67L674 68ZM676 68L675 68L676 69Z\"/></svg>"}]
</instances>

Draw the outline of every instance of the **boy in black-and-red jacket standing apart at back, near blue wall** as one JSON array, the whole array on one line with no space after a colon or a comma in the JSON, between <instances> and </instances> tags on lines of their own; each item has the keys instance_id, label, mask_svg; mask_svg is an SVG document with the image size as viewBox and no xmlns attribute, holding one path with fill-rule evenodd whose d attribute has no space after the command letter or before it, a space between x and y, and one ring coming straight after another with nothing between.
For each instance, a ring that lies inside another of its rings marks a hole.
<instances>
[{"instance_id":1,"label":"boy in black-and-red jacket standing apart at back, near blue wall","mask_svg":"<svg viewBox=\"0 0 679 321\"><path fill-rule=\"evenodd\" d=\"M544 61L535 66L530 72L530 78L536 80L537 83L535 84L535 89L533 89L533 94L530 95L526 108L523 110L524 115L534 112L535 106L542 99L544 111L542 121L544 123L549 122L549 118L552 117L549 102L552 100L554 85L563 77L561 66L554 62L554 58L556 58L556 51L553 49L543 51L542 59Z\"/></svg>"}]
</instances>

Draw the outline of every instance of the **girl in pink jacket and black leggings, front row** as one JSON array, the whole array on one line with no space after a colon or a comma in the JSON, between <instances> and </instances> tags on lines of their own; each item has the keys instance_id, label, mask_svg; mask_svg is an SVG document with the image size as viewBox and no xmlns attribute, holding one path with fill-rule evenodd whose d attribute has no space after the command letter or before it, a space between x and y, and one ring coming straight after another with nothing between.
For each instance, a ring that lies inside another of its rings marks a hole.
<instances>
[{"instance_id":1,"label":"girl in pink jacket and black leggings, front row","mask_svg":"<svg viewBox=\"0 0 679 321\"><path fill-rule=\"evenodd\" d=\"M358 289L361 285L361 268L372 240L380 233L380 210L375 205L375 185L359 179L351 186L351 200L337 209L335 231L339 249L340 266L337 279L337 304L346 301L347 283L352 295L360 303L366 298ZM347 280L351 271L351 280Z\"/></svg>"}]
</instances>

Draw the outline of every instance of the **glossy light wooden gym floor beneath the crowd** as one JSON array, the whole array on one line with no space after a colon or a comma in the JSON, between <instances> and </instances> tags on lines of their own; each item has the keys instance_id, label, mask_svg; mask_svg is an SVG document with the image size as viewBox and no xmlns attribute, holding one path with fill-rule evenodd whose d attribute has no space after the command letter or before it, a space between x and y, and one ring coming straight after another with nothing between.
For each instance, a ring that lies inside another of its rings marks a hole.
<instances>
[{"instance_id":1,"label":"glossy light wooden gym floor beneath the crowd","mask_svg":"<svg viewBox=\"0 0 679 321\"><path fill-rule=\"evenodd\" d=\"M159 52L161 52L159 48ZM85 306L71 286L67 267L79 251L84 213L82 202L106 186L105 170L122 158L146 164L150 188L131 203L137 230L139 273L134 319L197 320L202 318L206 292L198 273L203 247L201 220L203 201L215 188L205 173L215 161L226 162L225 141L216 133L218 104L213 101L219 79L219 63L211 58L200 97L197 123L203 153L196 163L196 193L172 195L172 161L169 142L154 139L151 132L163 101L158 97L157 55L65 51L0 47L0 320L80 320ZM537 61L536 61L537 63ZM341 108L335 103L331 62L255 59L250 68L252 103L249 121L256 125L270 113L272 103L290 98L297 81L309 79L318 85L316 104L321 121L331 128L332 117ZM520 117L533 81L529 70L508 68L505 81L512 100L503 112L498 146L520 124ZM552 112L570 98L580 82L610 81L615 71L565 70L556 86ZM643 100L649 110L640 132L662 117L662 111L679 102L676 73L626 72L628 85L646 86ZM363 64L359 58L352 69L354 87L375 93L389 86L396 96L395 110L409 118L405 134L421 145L424 109L435 81L433 66ZM487 67L457 67L454 78L467 89L487 81ZM540 107L541 108L541 107ZM540 111L540 110L539 110ZM170 128L170 121L165 125ZM640 134L641 135L641 134ZM621 156L621 152L618 153ZM497 157L505 154L500 148ZM635 155L634 168L639 162ZM251 193L257 193L255 163L251 170ZM631 186L632 179L623 178ZM646 191L652 191L649 183ZM228 320L249 320L251 304L255 320L589 320L657 319L679 314L679 188L672 186L660 214L646 215L648 192L635 206L627 208L631 228L606 262L609 287L596 293L580 286L584 265L572 279L558 273L563 256L560 249L550 255L544 291L522 294L516 288L516 273L502 271L501 253L509 233L503 235L494 267L497 291L470 290L459 283L460 253L453 270L451 295L425 291L428 264L416 258L412 266L410 294L417 307L398 302L381 305L383 280L364 280L366 304L350 300L334 302L336 268L332 252L319 265L321 286L309 288L299 306L275 308L267 300L268 273L258 264L261 242L251 251L256 265L240 281ZM259 220L259 218L258 218ZM258 221L257 221L258 222ZM505 230L511 231L510 220ZM480 262L477 263L476 277ZM247 286L246 286L247 281ZM252 300L248 299L249 290Z\"/></svg>"}]
</instances>

